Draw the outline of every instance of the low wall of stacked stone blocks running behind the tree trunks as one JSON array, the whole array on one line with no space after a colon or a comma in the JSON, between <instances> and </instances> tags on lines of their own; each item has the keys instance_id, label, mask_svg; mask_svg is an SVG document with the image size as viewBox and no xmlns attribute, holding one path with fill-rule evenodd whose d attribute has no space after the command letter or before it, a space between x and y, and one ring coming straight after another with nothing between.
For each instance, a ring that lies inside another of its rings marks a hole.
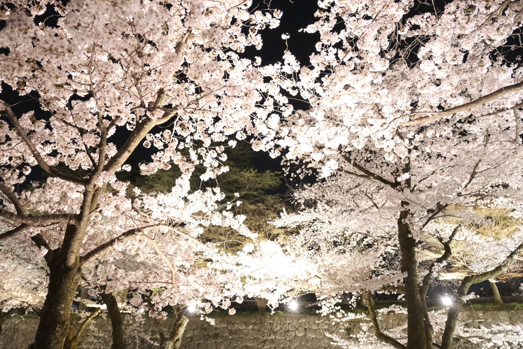
<instances>
[{"instance_id":1,"label":"low wall of stacked stone blocks running behind the tree trunks","mask_svg":"<svg viewBox=\"0 0 523 349\"><path fill-rule=\"evenodd\" d=\"M475 311L462 312L460 321L468 327L488 327L490 324L523 323L523 310L513 311ZM215 319L212 325L200 318L191 318L187 324L182 349L339 349L331 344L325 332L336 333L345 337L360 327L360 320L347 324L333 324L331 319L320 316L303 315L266 315L266 316L226 316ZM380 323L384 329L400 327L406 322L406 314L382 314ZM172 320L165 320L164 327L172 325ZM157 348L153 342L158 340L158 333L152 321L140 324L132 318L126 319L128 347L137 349ZM25 349L31 343L38 319L10 318L0 334L0 348ZM340 331L341 330L341 331ZM354 331L353 331L354 330ZM149 339L149 340L146 340ZM83 334L78 348L101 349L111 347L111 325L109 319L96 318ZM478 345L467 348L479 348Z\"/></svg>"}]
</instances>

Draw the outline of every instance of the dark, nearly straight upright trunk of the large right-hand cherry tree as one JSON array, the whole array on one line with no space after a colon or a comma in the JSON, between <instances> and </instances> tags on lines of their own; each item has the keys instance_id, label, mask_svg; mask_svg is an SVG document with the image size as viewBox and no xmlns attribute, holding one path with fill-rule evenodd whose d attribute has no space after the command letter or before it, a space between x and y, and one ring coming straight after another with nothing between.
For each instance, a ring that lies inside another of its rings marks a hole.
<instances>
[{"instance_id":1,"label":"dark, nearly straight upright trunk of the large right-hand cherry tree","mask_svg":"<svg viewBox=\"0 0 523 349\"><path fill-rule=\"evenodd\" d=\"M407 202L402 201L402 207ZM426 331L424 307L419 293L417 261L415 252L416 241L408 223L404 220L410 216L409 210L403 210L397 221L398 239L401 251L401 271L407 276L403 278L405 286L405 300L407 303L407 349L426 349Z\"/></svg>"}]
</instances>

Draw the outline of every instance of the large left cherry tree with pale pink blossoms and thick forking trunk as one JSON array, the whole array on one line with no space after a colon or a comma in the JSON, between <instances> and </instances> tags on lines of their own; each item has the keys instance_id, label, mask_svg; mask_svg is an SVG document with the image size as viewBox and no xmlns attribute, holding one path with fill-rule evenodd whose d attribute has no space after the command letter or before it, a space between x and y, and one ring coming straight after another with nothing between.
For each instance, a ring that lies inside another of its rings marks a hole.
<instances>
[{"instance_id":1,"label":"large left cherry tree with pale pink blossoms and thick forking trunk","mask_svg":"<svg viewBox=\"0 0 523 349\"><path fill-rule=\"evenodd\" d=\"M208 168L203 180L227 170L220 165L223 148L211 148L211 141L271 137L264 126L271 105L256 105L262 76L237 53L259 48L258 30L277 26L279 14L251 14L250 5L42 0L0 8L2 88L44 111L18 112L0 100L0 217L9 225L0 239L32 244L49 268L32 348L62 348L84 267L113 247L115 255L128 247L132 255L136 241L162 233L169 243L191 245L209 223L248 234L241 217L217 211L219 190L190 193L188 181L196 164ZM127 183L116 178L142 146L152 154L142 174L180 168L168 194L127 193ZM35 168L47 181L15 190ZM174 285L180 273L203 273L180 271L157 253L169 271L158 276Z\"/></svg>"}]
</instances>

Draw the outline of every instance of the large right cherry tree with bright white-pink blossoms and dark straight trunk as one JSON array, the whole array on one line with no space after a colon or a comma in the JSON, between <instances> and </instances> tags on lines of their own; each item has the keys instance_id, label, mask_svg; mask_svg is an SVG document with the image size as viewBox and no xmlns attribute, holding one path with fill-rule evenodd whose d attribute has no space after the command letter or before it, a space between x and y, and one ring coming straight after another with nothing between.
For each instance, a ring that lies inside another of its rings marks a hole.
<instances>
[{"instance_id":1,"label":"large right cherry tree with bright white-pink blossoms and dark straight trunk","mask_svg":"<svg viewBox=\"0 0 523 349\"><path fill-rule=\"evenodd\" d=\"M286 224L303 219L298 246L326 251L328 263L316 258L327 285L375 289L397 278L408 309L407 341L375 326L377 336L397 348L430 348L426 291L460 231L459 224L435 228L438 218L451 205L467 208L460 212L464 222L480 219L474 206L521 215L523 71L508 53L519 47L523 4L456 0L425 14L416 14L412 1L318 5L317 21L304 29L321 36L311 64L287 51L283 62L261 70L310 105L282 114L273 152L285 150L287 162L302 164L303 173L339 174L300 193L314 205ZM445 252L421 267L416 249L424 234L434 235ZM504 249L486 246L490 258L462 280L458 296L501 273L521 249L520 238L514 234ZM390 246L399 252L401 274L374 273L388 264ZM358 261L348 275L339 274L347 267L340 249ZM458 303L449 311L443 348L452 346Z\"/></svg>"}]
</instances>

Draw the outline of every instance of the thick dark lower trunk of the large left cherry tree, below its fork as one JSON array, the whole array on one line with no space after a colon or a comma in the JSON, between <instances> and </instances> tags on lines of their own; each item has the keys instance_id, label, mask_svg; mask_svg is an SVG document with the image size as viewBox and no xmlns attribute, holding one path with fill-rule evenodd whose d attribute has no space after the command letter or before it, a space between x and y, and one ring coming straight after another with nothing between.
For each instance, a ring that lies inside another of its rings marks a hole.
<instances>
[{"instance_id":1,"label":"thick dark lower trunk of the large left cherry tree, below its fork","mask_svg":"<svg viewBox=\"0 0 523 349\"><path fill-rule=\"evenodd\" d=\"M51 252L48 252L51 253ZM71 307L80 280L79 258L67 265L67 253L56 252L48 262L49 286L31 349L62 349L70 329Z\"/></svg>"}]
</instances>

